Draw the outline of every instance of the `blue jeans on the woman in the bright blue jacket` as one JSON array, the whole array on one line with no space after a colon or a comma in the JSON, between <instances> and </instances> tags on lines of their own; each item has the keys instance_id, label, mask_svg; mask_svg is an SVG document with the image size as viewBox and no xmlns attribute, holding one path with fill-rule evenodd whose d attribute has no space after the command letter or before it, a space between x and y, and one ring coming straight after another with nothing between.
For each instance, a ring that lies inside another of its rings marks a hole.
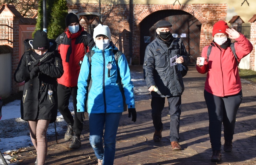
<instances>
[{"instance_id":1,"label":"blue jeans on the woman in the bright blue jacket","mask_svg":"<svg viewBox=\"0 0 256 165\"><path fill-rule=\"evenodd\" d=\"M103 159L103 165L114 163L115 138L121 115L122 113L89 113L90 143L95 156L100 160ZM102 138L104 138L104 148Z\"/></svg>"}]
</instances>

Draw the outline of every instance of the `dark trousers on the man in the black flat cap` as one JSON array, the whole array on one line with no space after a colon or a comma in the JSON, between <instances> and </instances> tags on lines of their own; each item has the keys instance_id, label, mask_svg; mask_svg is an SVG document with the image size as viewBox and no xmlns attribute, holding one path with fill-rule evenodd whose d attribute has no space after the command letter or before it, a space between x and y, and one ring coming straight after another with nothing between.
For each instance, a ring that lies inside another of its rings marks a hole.
<instances>
[{"instance_id":1,"label":"dark trousers on the man in the black flat cap","mask_svg":"<svg viewBox=\"0 0 256 165\"><path fill-rule=\"evenodd\" d=\"M179 140L181 96L167 97L170 114L170 141ZM151 100L152 119L154 127L160 131L162 123L162 111L164 109L165 97L153 97Z\"/></svg>"}]
</instances>

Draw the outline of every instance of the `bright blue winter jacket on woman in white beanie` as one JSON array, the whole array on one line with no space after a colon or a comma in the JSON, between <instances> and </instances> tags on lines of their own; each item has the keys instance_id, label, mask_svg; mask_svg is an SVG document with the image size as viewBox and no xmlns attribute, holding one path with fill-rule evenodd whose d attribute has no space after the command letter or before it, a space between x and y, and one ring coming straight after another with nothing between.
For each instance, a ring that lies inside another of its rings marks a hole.
<instances>
[{"instance_id":1,"label":"bright blue winter jacket on woman in white beanie","mask_svg":"<svg viewBox=\"0 0 256 165\"><path fill-rule=\"evenodd\" d=\"M135 108L133 82L131 81L130 69L125 56L118 59L118 68L116 66L113 49L115 46L109 46L104 51L96 46L92 48L95 53L91 57L91 66L87 56L81 66L78 77L77 91L77 109L81 112L86 111L86 101L88 102L88 113L118 113L123 112L123 99L121 91L116 83L117 69L120 71L121 81L123 83L125 101L128 108ZM107 64L111 63L110 77L108 77ZM91 69L91 82L89 82L89 71ZM90 88L88 86L90 84ZM88 94L88 98L87 97ZM87 100L88 99L88 100Z\"/></svg>"}]
</instances>

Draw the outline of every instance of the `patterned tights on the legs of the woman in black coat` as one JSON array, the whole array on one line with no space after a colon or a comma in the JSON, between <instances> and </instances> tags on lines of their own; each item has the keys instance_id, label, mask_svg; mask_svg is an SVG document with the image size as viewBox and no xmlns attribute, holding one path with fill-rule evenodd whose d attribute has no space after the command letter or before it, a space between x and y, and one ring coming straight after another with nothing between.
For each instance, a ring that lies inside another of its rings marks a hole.
<instances>
[{"instance_id":1,"label":"patterned tights on the legs of the woman in black coat","mask_svg":"<svg viewBox=\"0 0 256 165\"><path fill-rule=\"evenodd\" d=\"M44 165L47 155L46 131L50 120L28 121L31 141L37 153L37 164Z\"/></svg>"}]
</instances>

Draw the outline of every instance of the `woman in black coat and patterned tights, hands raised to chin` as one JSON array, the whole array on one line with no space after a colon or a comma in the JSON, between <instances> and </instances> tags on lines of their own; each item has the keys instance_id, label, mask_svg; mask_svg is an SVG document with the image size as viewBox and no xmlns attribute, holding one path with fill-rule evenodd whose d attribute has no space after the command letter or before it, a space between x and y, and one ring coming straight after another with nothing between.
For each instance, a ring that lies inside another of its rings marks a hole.
<instances>
[{"instance_id":1,"label":"woman in black coat and patterned tights, hands raised to chin","mask_svg":"<svg viewBox=\"0 0 256 165\"><path fill-rule=\"evenodd\" d=\"M31 141L37 152L35 164L43 165L47 155L46 131L58 112L57 78L64 71L61 56L55 51L57 44L47 38L46 32L36 31L28 44L32 49L21 57L14 81L25 81L21 118L28 121Z\"/></svg>"}]
</instances>

